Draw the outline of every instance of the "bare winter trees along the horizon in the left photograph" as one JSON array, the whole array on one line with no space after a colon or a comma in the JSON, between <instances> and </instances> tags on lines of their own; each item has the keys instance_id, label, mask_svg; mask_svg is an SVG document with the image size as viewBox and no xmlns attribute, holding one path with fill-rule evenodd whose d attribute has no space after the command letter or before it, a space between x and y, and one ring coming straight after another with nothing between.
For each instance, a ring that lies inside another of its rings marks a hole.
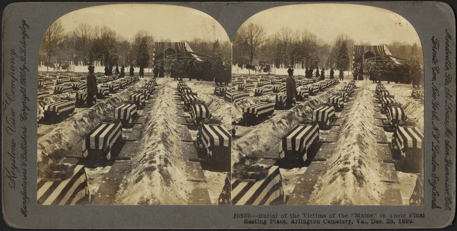
<instances>
[{"instance_id":1,"label":"bare winter trees along the horizon in the left photograph","mask_svg":"<svg viewBox=\"0 0 457 231\"><path fill-rule=\"evenodd\" d=\"M132 38L124 38L108 26L90 26L81 23L73 31L66 31L60 21L55 21L46 31L40 48L39 62L74 65L134 65L149 67L152 62L154 41L159 39L148 31L140 30ZM192 50L205 55L214 53L213 62L231 63L229 41L187 41Z\"/></svg>"}]
</instances>

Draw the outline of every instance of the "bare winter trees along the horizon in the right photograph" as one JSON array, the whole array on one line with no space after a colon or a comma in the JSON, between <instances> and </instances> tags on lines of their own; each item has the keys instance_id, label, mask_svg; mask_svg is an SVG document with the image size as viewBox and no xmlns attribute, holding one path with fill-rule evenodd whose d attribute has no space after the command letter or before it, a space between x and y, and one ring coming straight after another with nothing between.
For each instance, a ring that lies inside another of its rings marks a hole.
<instances>
[{"instance_id":1,"label":"bare winter trees along the horizon in the right photograph","mask_svg":"<svg viewBox=\"0 0 457 231\"><path fill-rule=\"evenodd\" d=\"M363 41L356 43L347 34L340 34L328 43L307 29L293 31L289 27L282 27L275 34L267 36L263 26L250 23L241 26L235 35L233 61L277 68L336 67L347 70L352 69L355 44L371 45ZM393 42L380 45L386 45L394 56L415 59L423 64L422 52L417 52L417 44Z\"/></svg>"}]
</instances>

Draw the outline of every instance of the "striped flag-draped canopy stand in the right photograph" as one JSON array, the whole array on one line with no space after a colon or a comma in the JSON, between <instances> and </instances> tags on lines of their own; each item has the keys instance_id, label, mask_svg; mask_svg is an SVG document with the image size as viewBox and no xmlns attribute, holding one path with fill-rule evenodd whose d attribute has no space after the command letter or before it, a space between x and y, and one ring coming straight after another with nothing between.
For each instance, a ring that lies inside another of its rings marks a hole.
<instances>
[{"instance_id":1,"label":"striped flag-draped canopy stand in the right photograph","mask_svg":"<svg viewBox=\"0 0 457 231\"><path fill-rule=\"evenodd\" d=\"M354 45L352 55L352 71L362 65L366 69L367 64L382 62L386 64L401 65L409 61L408 59L393 56L385 45Z\"/></svg>"}]
</instances>

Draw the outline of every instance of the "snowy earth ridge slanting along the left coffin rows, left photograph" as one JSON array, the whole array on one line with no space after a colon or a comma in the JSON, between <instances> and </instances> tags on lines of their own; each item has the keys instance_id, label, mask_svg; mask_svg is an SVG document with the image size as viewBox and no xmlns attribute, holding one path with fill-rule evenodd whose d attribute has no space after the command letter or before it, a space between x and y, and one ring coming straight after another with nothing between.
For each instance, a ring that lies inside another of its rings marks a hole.
<instances>
[{"instance_id":1,"label":"snowy earth ridge slanting along the left coffin rows, left photograph","mask_svg":"<svg viewBox=\"0 0 457 231\"><path fill-rule=\"evenodd\" d=\"M105 101L73 115L62 123L59 123L51 132L38 139L38 173L43 172L43 168L47 168L48 164L60 161L64 157L65 152L78 144L88 131L100 123L101 119L112 117L114 115L114 108L123 101L128 100L129 96L134 91L143 87L145 83L146 80L141 80L122 92L112 95Z\"/></svg>"}]
</instances>

